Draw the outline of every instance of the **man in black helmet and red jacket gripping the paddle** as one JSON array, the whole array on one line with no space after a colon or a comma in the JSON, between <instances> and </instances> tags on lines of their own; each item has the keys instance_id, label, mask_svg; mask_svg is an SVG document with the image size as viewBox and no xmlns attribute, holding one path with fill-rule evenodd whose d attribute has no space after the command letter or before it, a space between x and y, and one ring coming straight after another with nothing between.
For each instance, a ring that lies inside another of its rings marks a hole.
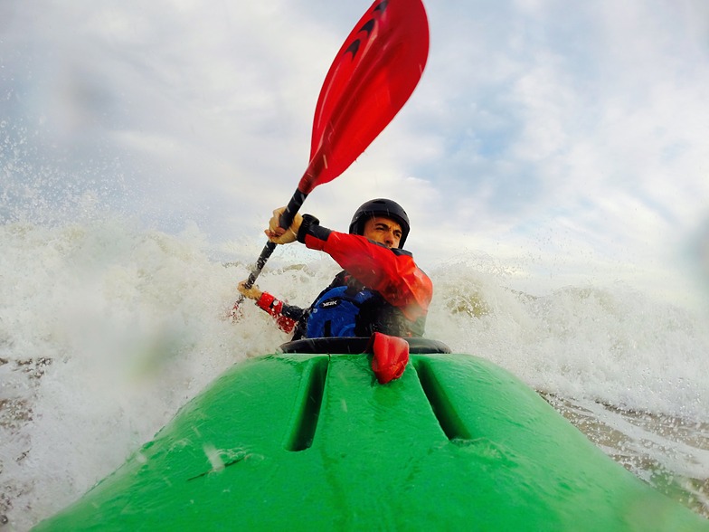
<instances>
[{"instance_id":1,"label":"man in black helmet and red jacket gripping the paddle","mask_svg":"<svg viewBox=\"0 0 709 532\"><path fill-rule=\"evenodd\" d=\"M402 249L409 235L409 216L390 199L373 199L352 217L349 233L320 225L315 216L296 215L284 230L276 209L265 231L271 242L302 242L328 253L342 268L307 309L288 305L256 287L244 297L276 319L293 339L312 337L369 337L373 332L396 337L421 337L433 294L429 277Z\"/></svg>"}]
</instances>

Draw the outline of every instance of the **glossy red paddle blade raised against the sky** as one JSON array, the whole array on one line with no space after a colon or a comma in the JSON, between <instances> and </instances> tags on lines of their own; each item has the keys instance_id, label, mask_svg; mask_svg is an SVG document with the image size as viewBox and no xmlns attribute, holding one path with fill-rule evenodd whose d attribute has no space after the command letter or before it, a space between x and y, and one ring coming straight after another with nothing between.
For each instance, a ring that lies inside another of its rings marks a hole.
<instances>
[{"instance_id":1,"label":"glossy red paddle blade raised against the sky","mask_svg":"<svg viewBox=\"0 0 709 532\"><path fill-rule=\"evenodd\" d=\"M317 100L310 163L298 190L342 174L421 80L429 23L421 0L374 0L337 52Z\"/></svg>"}]
</instances>

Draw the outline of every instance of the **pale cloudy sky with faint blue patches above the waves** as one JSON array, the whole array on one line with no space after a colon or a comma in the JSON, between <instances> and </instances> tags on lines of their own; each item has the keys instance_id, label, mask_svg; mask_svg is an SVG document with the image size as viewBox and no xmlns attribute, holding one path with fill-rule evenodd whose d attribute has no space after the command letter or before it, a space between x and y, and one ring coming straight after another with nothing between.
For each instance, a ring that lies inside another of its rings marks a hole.
<instances>
[{"instance_id":1,"label":"pale cloudy sky with faint blue patches above the waves","mask_svg":"<svg viewBox=\"0 0 709 532\"><path fill-rule=\"evenodd\" d=\"M0 219L116 213L252 256L368 0L4 0ZM303 212L392 197L424 270L709 292L709 3L426 0L400 114Z\"/></svg>"}]
</instances>

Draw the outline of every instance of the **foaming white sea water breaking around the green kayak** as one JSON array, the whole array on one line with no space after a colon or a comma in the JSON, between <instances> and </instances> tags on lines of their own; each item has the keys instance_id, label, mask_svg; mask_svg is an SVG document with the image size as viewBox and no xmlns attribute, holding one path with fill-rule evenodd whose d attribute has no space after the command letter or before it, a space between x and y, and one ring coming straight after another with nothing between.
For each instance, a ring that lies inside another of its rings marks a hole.
<instances>
[{"instance_id":1,"label":"foaming white sea water breaking around the green kayak","mask_svg":"<svg viewBox=\"0 0 709 532\"><path fill-rule=\"evenodd\" d=\"M0 529L27 530L149 441L225 368L288 336L251 303L248 261L196 227L126 219L0 226ZM615 460L709 516L709 331L627 286L512 290L494 261L422 265L427 337L521 377ZM337 271L273 259L261 288L306 306Z\"/></svg>"}]
</instances>

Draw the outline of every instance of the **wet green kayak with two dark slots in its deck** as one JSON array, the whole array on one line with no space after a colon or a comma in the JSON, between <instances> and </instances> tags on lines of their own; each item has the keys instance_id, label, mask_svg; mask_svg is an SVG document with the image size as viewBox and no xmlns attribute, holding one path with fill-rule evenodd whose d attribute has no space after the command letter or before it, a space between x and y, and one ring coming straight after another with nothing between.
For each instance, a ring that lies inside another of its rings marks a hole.
<instances>
[{"instance_id":1,"label":"wet green kayak with two dark slots in its deck","mask_svg":"<svg viewBox=\"0 0 709 532\"><path fill-rule=\"evenodd\" d=\"M418 338L381 385L367 339L232 366L35 530L709 530L505 369Z\"/></svg>"}]
</instances>

